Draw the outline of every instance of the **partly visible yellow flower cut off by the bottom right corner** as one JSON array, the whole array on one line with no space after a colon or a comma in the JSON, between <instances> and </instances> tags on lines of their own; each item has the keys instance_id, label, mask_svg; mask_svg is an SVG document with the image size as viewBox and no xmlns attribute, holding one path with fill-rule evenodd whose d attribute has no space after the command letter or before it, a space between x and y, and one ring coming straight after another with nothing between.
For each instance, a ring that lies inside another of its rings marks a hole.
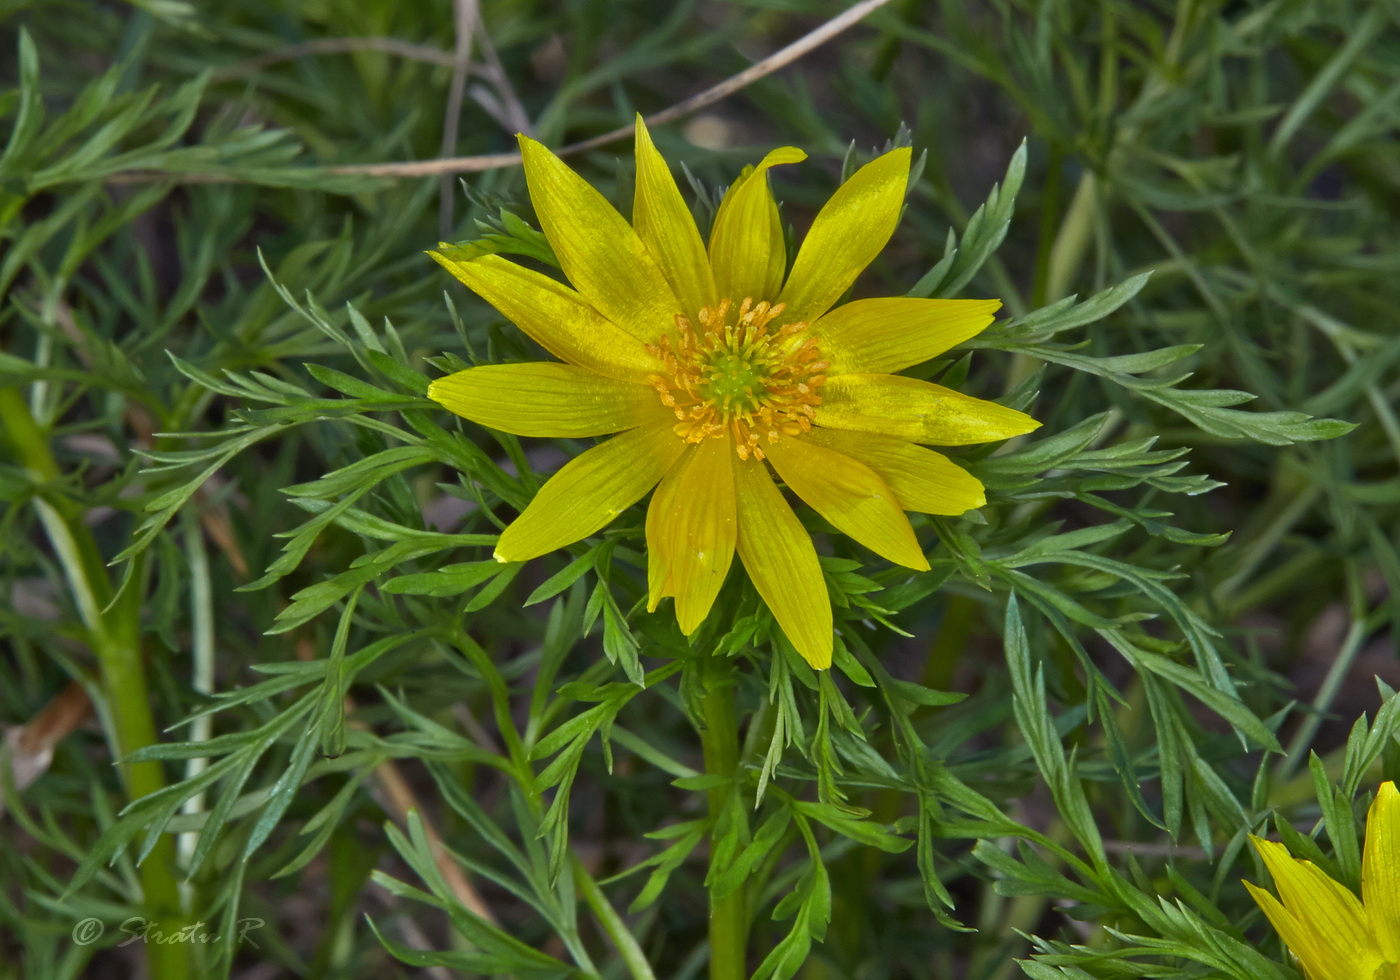
<instances>
[{"instance_id":1,"label":"partly visible yellow flower cut off by the bottom right corner","mask_svg":"<svg viewBox=\"0 0 1400 980\"><path fill-rule=\"evenodd\" d=\"M1280 902L1245 882L1308 980L1400 980L1400 792L1383 783L1366 815L1361 900L1282 844L1250 837Z\"/></svg>"}]
</instances>

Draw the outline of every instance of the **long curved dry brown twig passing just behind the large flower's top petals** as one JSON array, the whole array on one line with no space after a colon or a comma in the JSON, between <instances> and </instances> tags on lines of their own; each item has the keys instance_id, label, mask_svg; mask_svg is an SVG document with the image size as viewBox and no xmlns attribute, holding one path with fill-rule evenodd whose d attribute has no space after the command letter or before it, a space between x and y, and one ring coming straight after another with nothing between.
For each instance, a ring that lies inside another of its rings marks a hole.
<instances>
[{"instance_id":1,"label":"long curved dry brown twig passing just behind the large flower's top petals","mask_svg":"<svg viewBox=\"0 0 1400 980\"><path fill-rule=\"evenodd\" d=\"M808 34L802 35L787 48L783 48L773 55L769 55L762 62L756 62L721 81L717 85L711 85L703 92L697 92L687 99L682 99L675 105L662 109L661 112L645 116L648 126L659 126L668 123L673 119L680 119L692 112L706 108L707 105L714 105L720 99L728 98L735 92L752 85L759 78L764 78L774 71L778 71L797 59L802 57L808 52L825 45L827 41L834 38L841 31L855 25L874 11L879 10L889 0L861 0L855 6L844 10L832 20L826 21L820 27ZM346 39L353 41L353 39ZM358 41L370 41L368 38L358 38ZM388 38L379 38L377 41L388 41ZM416 45L409 45L409 48L417 48ZM353 49L351 49L353 50ZM430 49L435 50L435 49ZM447 52L437 52L438 55L447 55ZM284 55L280 52L279 55ZM421 55L421 52L420 52ZM448 64L455 64L455 57L448 56ZM273 60L281 60L276 57ZM435 57L431 60L437 60ZM270 62L269 62L270 63ZM561 157L587 153L588 150L596 150L598 147L615 143L617 140L631 136L633 126L619 126L610 133L603 133L602 136L595 136L581 143L571 143L557 153ZM326 167L326 168L308 168L308 172L323 172L333 174L336 176L388 176L388 178L413 178L413 176L442 176L447 174L480 174L483 171L498 169L501 167L515 167L521 162L518 153L490 153L477 157L447 157L441 160L419 160L407 162L388 162L388 164L347 164L343 167ZM171 174L151 174L133 171L129 174L116 174L108 178L109 183L150 183L154 181L169 181ZM204 174L189 174L178 178L186 183L238 183L238 178L223 176L223 175L204 175Z\"/></svg>"}]
</instances>

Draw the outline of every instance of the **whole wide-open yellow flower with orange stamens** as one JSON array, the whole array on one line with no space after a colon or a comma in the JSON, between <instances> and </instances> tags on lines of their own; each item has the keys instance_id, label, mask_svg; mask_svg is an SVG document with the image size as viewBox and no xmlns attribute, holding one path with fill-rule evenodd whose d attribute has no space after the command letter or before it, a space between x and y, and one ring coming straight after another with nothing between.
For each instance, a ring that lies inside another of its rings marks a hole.
<instances>
[{"instance_id":1,"label":"whole wide-open yellow flower with orange stamens","mask_svg":"<svg viewBox=\"0 0 1400 980\"><path fill-rule=\"evenodd\" d=\"M729 188L708 248L637 120L627 223L535 140L521 137L540 227L570 286L496 255L431 252L561 363L491 364L433 384L447 409L517 435L617 433L570 461L500 538L525 561L585 538L657 487L647 511L650 609L675 596L687 636L734 553L812 666L832 662L816 549L777 476L841 532L910 568L928 561L904 511L962 514L981 484L920 442L967 445L1037 421L902 371L983 330L997 300L837 298L889 241L910 151L857 171L787 255L767 169Z\"/></svg>"}]
</instances>

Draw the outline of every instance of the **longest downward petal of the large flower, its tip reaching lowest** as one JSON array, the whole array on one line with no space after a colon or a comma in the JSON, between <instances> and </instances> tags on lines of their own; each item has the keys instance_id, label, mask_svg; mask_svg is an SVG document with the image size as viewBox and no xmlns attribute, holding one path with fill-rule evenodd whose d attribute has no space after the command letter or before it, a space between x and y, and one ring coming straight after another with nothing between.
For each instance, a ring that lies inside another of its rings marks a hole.
<instances>
[{"instance_id":1,"label":"longest downward petal of the large flower, its tip reaching lowest","mask_svg":"<svg viewBox=\"0 0 1400 980\"><path fill-rule=\"evenodd\" d=\"M739 559L797 652L818 671L832 665L832 601L816 549L757 459L734 462Z\"/></svg>"}]
</instances>

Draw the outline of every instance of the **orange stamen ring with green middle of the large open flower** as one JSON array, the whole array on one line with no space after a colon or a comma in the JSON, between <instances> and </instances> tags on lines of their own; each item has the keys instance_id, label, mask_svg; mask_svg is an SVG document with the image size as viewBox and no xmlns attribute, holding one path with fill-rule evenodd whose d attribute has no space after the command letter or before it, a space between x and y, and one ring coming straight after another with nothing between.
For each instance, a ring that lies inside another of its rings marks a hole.
<instances>
[{"instance_id":1,"label":"orange stamen ring with green middle of the large open flower","mask_svg":"<svg viewBox=\"0 0 1400 980\"><path fill-rule=\"evenodd\" d=\"M741 459L763 459L760 438L773 444L812 428L830 364L802 336L806 322L769 329L783 309L746 298L731 322L732 304L722 300L700 309L699 330L676 314L676 329L647 346L666 368L648 381L676 413L676 435L700 442L729 434Z\"/></svg>"}]
</instances>

